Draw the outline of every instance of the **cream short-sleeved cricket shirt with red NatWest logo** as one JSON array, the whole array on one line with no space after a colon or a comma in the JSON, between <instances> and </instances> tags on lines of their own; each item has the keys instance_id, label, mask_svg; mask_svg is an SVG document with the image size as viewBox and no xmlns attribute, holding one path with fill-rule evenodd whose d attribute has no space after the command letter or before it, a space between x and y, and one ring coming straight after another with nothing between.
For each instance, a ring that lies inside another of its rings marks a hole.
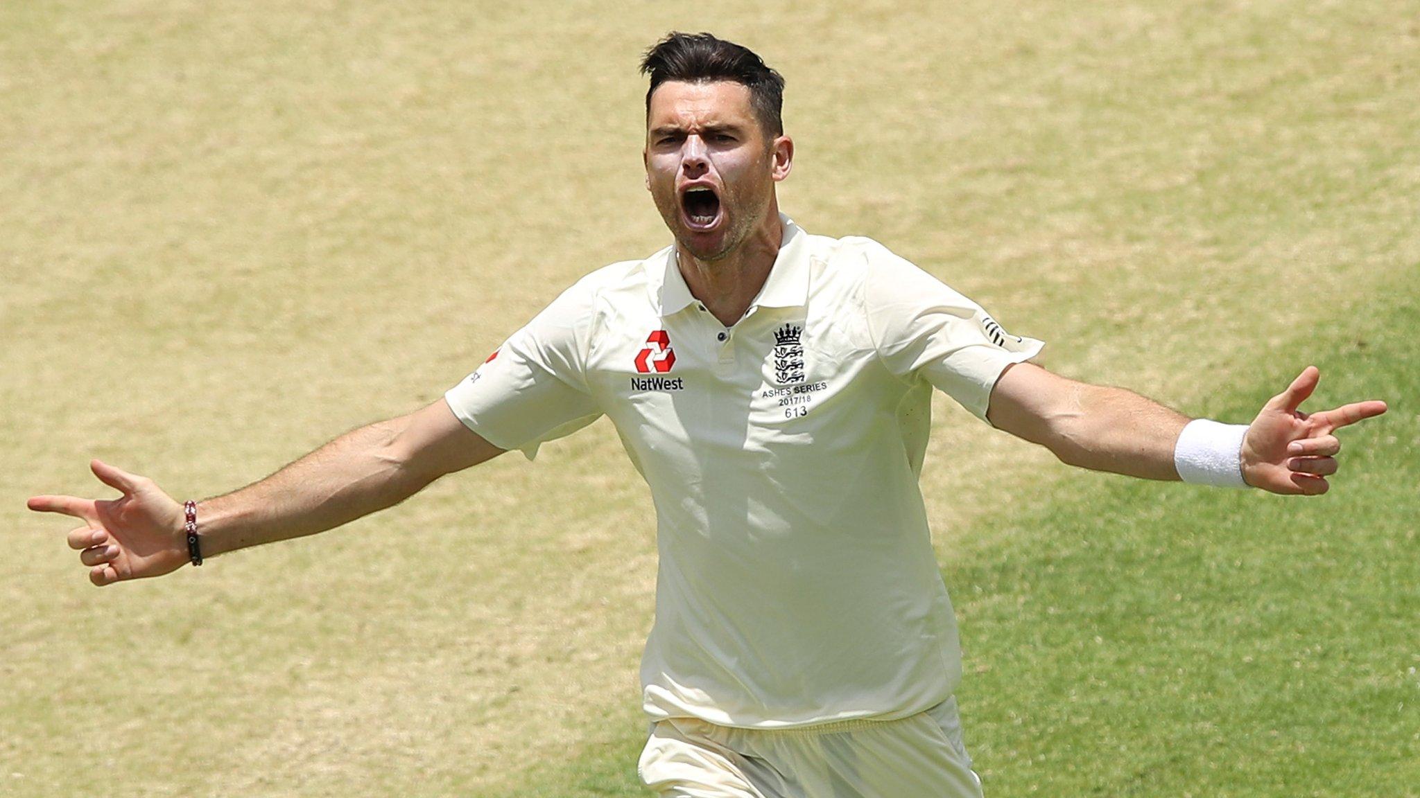
<instances>
[{"instance_id":1,"label":"cream short-sleeved cricket shirt with red NatWest logo","mask_svg":"<svg viewBox=\"0 0 1420 798\"><path fill-rule=\"evenodd\" d=\"M1041 342L870 239L784 241L726 328L674 247L588 274L449 390L494 446L601 415L650 486L660 564L642 660L653 718L782 728L947 699L956 619L917 476L932 388L985 417Z\"/></svg>"}]
</instances>

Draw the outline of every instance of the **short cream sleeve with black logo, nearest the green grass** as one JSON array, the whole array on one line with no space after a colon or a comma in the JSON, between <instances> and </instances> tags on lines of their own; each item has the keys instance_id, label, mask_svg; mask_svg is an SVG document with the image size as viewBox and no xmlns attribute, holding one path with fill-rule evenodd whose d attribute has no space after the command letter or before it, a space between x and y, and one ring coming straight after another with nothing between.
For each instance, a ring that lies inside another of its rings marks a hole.
<instances>
[{"instance_id":1,"label":"short cream sleeve with black logo, nearest the green grass","mask_svg":"<svg viewBox=\"0 0 1420 798\"><path fill-rule=\"evenodd\" d=\"M997 378L1044 346L1011 335L981 305L870 243L865 305L883 364L905 381L926 379L985 420Z\"/></svg>"}]
</instances>

